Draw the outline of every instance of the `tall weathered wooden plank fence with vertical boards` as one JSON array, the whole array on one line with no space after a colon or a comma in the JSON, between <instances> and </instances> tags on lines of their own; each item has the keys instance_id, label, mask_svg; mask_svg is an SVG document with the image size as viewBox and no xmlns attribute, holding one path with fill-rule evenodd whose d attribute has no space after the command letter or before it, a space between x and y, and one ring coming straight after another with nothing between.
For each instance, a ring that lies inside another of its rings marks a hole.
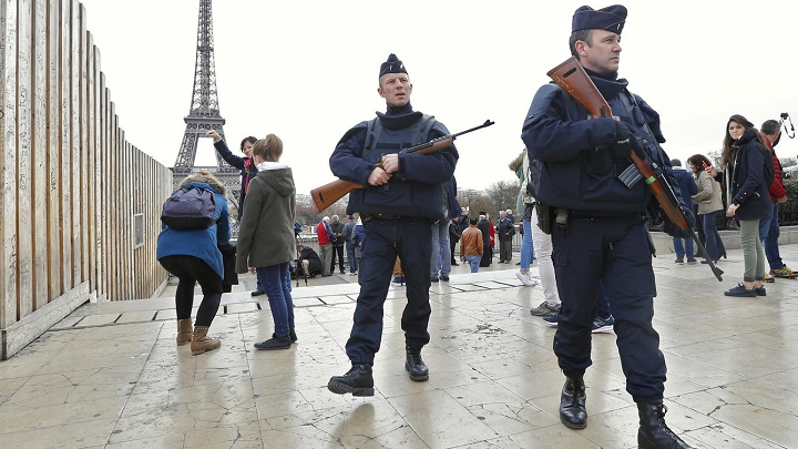
<instances>
[{"instance_id":1,"label":"tall weathered wooden plank fence with vertical boards","mask_svg":"<svg viewBox=\"0 0 798 449\"><path fill-rule=\"evenodd\" d=\"M125 141L78 0L0 0L0 331L11 357L86 300L150 297L172 173Z\"/></svg>"}]
</instances>

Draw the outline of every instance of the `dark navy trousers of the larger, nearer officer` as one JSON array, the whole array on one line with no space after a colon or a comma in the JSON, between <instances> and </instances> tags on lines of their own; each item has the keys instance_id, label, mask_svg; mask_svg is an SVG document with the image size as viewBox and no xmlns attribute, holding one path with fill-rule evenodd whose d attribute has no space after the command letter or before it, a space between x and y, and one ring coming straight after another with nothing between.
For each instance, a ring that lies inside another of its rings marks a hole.
<instances>
[{"instance_id":1,"label":"dark navy trousers of the larger, nearer officer","mask_svg":"<svg viewBox=\"0 0 798 449\"><path fill-rule=\"evenodd\" d=\"M566 376L592 364L591 329L600 282L615 317L626 389L634 398L662 397L665 359L652 327L656 296L648 234L638 216L576 218L552 235L562 310L554 353Z\"/></svg>"}]
</instances>

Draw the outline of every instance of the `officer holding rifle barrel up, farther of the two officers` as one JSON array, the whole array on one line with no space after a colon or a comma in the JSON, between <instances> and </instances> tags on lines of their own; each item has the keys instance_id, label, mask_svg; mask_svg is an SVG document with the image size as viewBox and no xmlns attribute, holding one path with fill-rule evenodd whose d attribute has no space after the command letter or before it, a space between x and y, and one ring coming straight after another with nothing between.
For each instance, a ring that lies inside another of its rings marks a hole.
<instances>
[{"instance_id":1,"label":"officer holding rifle barrel up, farther of the two officers","mask_svg":"<svg viewBox=\"0 0 798 449\"><path fill-rule=\"evenodd\" d=\"M380 348L382 306L397 256L402 262L408 298L401 317L405 369L412 380L429 378L421 348L430 340L430 225L447 220L441 207L443 183L452 178L458 160L454 146L428 155L401 152L449 131L432 116L412 110L412 84L395 54L380 65L377 92L386 99L387 112L377 112L376 119L349 130L329 160L336 176L365 185L349 193L347 206L347 214L360 213L366 234L358 277L360 295L346 344L352 366L327 385L341 395L374 396L371 366Z\"/></svg>"}]
</instances>

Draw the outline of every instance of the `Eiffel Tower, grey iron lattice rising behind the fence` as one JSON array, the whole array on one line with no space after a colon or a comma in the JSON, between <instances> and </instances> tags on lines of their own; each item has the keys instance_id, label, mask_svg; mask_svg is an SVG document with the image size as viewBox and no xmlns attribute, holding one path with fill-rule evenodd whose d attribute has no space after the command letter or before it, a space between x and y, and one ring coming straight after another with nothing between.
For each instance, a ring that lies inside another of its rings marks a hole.
<instances>
[{"instance_id":1,"label":"Eiffel Tower, grey iron lattice rising behind the fence","mask_svg":"<svg viewBox=\"0 0 798 449\"><path fill-rule=\"evenodd\" d=\"M177 160L172 167L173 183L177 185L191 173L207 170L227 187L227 204L231 211L238 206L236 198L241 194L241 176L237 169L227 164L216 153L216 166L195 166L197 141L205 133L215 130L224 136L225 120L219 114L218 92L216 90L216 63L214 61L213 14L211 0L200 0L200 24L197 27L196 64L194 69L194 91L188 116L183 119L186 130L183 134Z\"/></svg>"}]
</instances>

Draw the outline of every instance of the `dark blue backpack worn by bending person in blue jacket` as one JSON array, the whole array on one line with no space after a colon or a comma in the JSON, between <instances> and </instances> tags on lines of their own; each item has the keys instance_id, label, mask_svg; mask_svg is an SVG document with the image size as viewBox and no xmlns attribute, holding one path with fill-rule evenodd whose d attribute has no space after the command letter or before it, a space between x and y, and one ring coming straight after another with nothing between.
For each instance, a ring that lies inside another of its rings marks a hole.
<instances>
[{"instance_id":1,"label":"dark blue backpack worn by bending person in blue jacket","mask_svg":"<svg viewBox=\"0 0 798 449\"><path fill-rule=\"evenodd\" d=\"M176 190L164 202L161 221L173 229L204 229L216 221L216 198L212 191L200 187Z\"/></svg>"}]
</instances>

